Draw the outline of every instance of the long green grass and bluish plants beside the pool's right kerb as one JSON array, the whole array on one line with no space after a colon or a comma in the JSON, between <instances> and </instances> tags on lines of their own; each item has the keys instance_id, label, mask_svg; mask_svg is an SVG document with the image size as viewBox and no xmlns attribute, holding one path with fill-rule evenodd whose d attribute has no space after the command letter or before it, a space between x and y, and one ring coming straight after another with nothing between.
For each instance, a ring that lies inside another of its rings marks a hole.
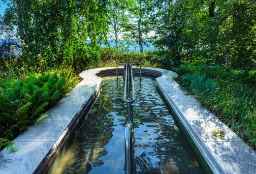
<instances>
[{"instance_id":1,"label":"long green grass and bluish plants beside the pool's right kerb","mask_svg":"<svg viewBox=\"0 0 256 174\"><path fill-rule=\"evenodd\" d=\"M185 72L184 68L180 72ZM255 71L225 72L218 66L205 65L189 65L188 70L191 74L182 76L182 87L256 148Z\"/></svg>"}]
</instances>

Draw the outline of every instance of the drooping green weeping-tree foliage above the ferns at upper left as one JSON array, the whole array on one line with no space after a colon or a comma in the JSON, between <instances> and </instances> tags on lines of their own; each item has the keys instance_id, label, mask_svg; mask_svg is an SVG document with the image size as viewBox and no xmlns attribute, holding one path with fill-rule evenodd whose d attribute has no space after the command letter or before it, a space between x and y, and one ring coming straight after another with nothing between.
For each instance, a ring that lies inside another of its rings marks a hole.
<instances>
[{"instance_id":1,"label":"drooping green weeping-tree foliage above the ferns at upper left","mask_svg":"<svg viewBox=\"0 0 256 174\"><path fill-rule=\"evenodd\" d=\"M72 67L78 74L99 66L98 44L108 31L106 1L21 0L11 1L8 6L3 18L7 25L4 26L19 30L18 45L22 48L19 54L15 50L17 58L12 58L15 61L8 65L2 63L4 70L24 68L43 73L62 65ZM0 17L0 23L3 22ZM88 39L90 44L86 42ZM10 45L6 48L9 51ZM3 60L1 55L0 58Z\"/></svg>"}]
</instances>

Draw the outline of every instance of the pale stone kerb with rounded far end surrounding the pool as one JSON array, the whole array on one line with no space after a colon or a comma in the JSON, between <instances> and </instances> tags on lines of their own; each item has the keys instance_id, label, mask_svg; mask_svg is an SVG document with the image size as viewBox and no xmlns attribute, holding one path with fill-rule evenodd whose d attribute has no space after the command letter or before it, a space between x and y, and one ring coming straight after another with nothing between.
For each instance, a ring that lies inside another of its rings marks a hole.
<instances>
[{"instance_id":1,"label":"pale stone kerb with rounded far end surrounding the pool","mask_svg":"<svg viewBox=\"0 0 256 174\"><path fill-rule=\"evenodd\" d=\"M139 73L139 68L133 72ZM0 173L47 173L54 171L69 141L85 119L93 98L100 88L97 75L115 73L116 67L83 71L84 80L47 111L48 118L31 126L17 137L18 152L0 152ZM118 67L123 73L123 67ZM178 124L206 172L220 174L255 174L256 152L245 144L216 116L184 92L173 79L178 74L160 68L142 68L142 75L156 77L160 93L172 110ZM47 128L47 129L46 129ZM213 129L225 132L224 139L211 136Z\"/></svg>"}]
</instances>

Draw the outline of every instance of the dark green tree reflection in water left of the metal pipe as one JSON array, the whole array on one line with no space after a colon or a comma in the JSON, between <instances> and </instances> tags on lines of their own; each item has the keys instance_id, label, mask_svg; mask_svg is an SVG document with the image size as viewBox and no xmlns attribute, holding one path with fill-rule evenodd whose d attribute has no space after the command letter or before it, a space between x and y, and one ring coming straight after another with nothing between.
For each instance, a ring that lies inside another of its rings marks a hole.
<instances>
[{"instance_id":1,"label":"dark green tree reflection in water left of the metal pipe","mask_svg":"<svg viewBox=\"0 0 256 174\"><path fill-rule=\"evenodd\" d=\"M104 146L108 144L114 131L113 117L109 115L113 108L110 101L107 91L101 91L84 127L80 129L72 145L76 151L76 161L66 172L86 174L95 166L104 164L100 157L107 155Z\"/></svg>"}]
</instances>

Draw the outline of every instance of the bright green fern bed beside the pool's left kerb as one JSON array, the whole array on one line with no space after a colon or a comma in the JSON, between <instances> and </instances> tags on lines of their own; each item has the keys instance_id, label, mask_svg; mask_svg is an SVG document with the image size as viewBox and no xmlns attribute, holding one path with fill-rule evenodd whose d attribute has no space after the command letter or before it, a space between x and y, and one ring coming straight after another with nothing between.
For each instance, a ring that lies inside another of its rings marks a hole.
<instances>
[{"instance_id":1,"label":"bright green fern bed beside the pool's left kerb","mask_svg":"<svg viewBox=\"0 0 256 174\"><path fill-rule=\"evenodd\" d=\"M0 82L0 149L9 147L15 150L10 140L31 124L46 118L44 111L78 82L79 77L70 68L3 79Z\"/></svg>"}]
</instances>

